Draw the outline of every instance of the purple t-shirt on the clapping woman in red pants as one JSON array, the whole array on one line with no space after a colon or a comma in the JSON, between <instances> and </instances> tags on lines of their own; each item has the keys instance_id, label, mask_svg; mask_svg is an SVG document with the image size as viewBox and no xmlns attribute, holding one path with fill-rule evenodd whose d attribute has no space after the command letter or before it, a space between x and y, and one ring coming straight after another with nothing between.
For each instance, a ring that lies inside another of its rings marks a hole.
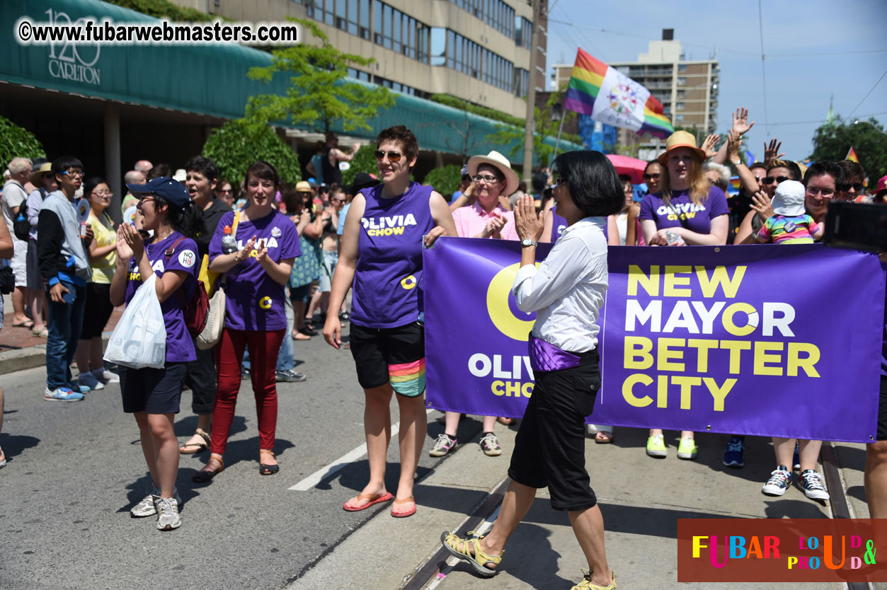
<instances>
[{"instance_id":1,"label":"purple t-shirt on the clapping woman in red pants","mask_svg":"<svg viewBox=\"0 0 887 590\"><path fill-rule=\"evenodd\" d=\"M216 226L209 243L209 261L222 253L224 227L232 225L234 212L225 213ZM255 236L256 249L225 273L225 326L232 330L271 331L287 328L284 308L284 286L268 275L255 257L260 245L267 245L268 256L279 262L302 255L299 232L293 221L274 211L262 219L244 221L237 225L237 247L242 249Z\"/></svg>"}]
</instances>

